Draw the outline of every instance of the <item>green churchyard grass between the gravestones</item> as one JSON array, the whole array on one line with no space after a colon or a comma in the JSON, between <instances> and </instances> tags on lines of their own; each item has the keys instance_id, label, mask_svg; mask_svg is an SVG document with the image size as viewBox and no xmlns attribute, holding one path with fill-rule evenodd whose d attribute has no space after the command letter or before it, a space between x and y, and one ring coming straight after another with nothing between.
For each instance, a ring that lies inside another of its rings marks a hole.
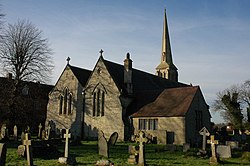
<instances>
[{"instance_id":1,"label":"green churchyard grass between the gravestones","mask_svg":"<svg viewBox=\"0 0 250 166\"><path fill-rule=\"evenodd\" d=\"M109 160L114 162L115 166L126 166L128 154L128 145L131 143L117 143L110 149ZM22 166L26 165L26 159L18 157L17 143L7 144L6 165ZM149 166L165 166L165 165L209 165L208 157L197 157L196 149L191 149L187 153L182 152L182 148L178 147L176 152L163 150L163 145L146 144L145 158L146 164ZM157 149L157 150L156 150ZM41 151L40 151L41 152ZM63 156L64 144L58 145L58 151L45 152L42 155L34 152L34 165L37 166L59 166L58 158ZM103 159L98 155L98 145L96 141L81 142L81 145L70 146L70 155L75 157L78 165L95 165L96 161ZM243 156L243 157L242 157ZM250 165L250 152L233 152L233 157L219 161L218 165Z\"/></svg>"}]
</instances>

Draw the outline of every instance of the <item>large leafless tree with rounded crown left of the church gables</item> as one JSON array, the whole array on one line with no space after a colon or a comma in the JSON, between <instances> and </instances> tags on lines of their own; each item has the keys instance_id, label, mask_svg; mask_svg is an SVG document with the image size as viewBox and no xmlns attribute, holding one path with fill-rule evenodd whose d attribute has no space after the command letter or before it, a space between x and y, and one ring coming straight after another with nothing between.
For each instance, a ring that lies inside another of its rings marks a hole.
<instances>
[{"instance_id":1,"label":"large leafless tree with rounded crown left of the church gables","mask_svg":"<svg viewBox=\"0 0 250 166\"><path fill-rule=\"evenodd\" d=\"M18 20L3 29L0 62L15 80L49 81L53 69L51 53L42 31L31 22Z\"/></svg>"}]
</instances>

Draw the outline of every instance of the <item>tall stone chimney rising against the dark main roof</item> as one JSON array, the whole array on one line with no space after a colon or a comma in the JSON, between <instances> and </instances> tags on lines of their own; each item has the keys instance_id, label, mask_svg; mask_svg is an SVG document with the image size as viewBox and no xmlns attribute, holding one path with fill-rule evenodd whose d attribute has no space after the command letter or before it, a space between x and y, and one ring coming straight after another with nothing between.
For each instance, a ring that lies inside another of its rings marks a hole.
<instances>
[{"instance_id":1,"label":"tall stone chimney rising against the dark main roof","mask_svg":"<svg viewBox=\"0 0 250 166\"><path fill-rule=\"evenodd\" d=\"M126 59L124 60L124 85L126 92L128 94L133 93L132 85L132 60L130 59L130 54L127 53Z\"/></svg>"}]
</instances>

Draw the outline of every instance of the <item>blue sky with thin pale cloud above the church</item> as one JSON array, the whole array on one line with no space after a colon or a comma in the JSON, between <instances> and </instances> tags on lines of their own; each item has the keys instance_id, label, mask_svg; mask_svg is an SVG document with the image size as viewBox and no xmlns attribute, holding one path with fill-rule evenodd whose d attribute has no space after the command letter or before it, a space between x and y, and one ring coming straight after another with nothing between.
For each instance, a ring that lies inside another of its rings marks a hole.
<instances>
[{"instance_id":1,"label":"blue sky with thin pale cloud above the church","mask_svg":"<svg viewBox=\"0 0 250 166\"><path fill-rule=\"evenodd\" d=\"M0 0L6 23L28 19L48 38L55 64L92 70L104 58L155 73L164 8L179 81L199 85L209 105L216 93L250 79L249 0ZM3 74L5 75L5 74ZM212 120L220 122L219 114Z\"/></svg>"}]
</instances>

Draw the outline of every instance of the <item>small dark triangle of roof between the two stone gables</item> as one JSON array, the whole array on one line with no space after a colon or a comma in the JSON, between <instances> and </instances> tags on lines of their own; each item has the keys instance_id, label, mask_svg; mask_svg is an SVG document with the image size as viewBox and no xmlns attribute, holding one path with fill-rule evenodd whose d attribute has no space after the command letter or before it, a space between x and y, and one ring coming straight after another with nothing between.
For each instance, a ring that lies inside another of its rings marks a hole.
<instances>
[{"instance_id":1,"label":"small dark triangle of roof between the two stone gables","mask_svg":"<svg viewBox=\"0 0 250 166\"><path fill-rule=\"evenodd\" d=\"M89 76L92 71L82 69L79 67L71 66L68 64L68 67L71 69L71 71L74 73L80 84L84 87L85 84L87 83Z\"/></svg>"}]
</instances>

